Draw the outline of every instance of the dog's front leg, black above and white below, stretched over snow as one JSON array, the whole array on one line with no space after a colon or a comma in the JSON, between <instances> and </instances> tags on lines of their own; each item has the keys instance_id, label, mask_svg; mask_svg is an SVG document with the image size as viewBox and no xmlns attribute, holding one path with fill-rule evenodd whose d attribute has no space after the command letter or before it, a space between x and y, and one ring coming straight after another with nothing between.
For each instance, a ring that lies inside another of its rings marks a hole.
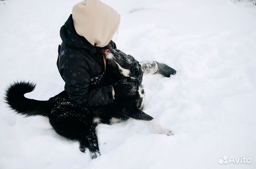
<instances>
[{"instance_id":1,"label":"dog's front leg, black above and white below, stretched over snow","mask_svg":"<svg viewBox=\"0 0 256 169\"><path fill-rule=\"evenodd\" d=\"M129 112L129 117L139 120L143 123L149 124L149 126L159 132L159 134L174 135L171 130L163 128L153 117L147 115L140 109L135 109Z\"/></svg>"}]
</instances>

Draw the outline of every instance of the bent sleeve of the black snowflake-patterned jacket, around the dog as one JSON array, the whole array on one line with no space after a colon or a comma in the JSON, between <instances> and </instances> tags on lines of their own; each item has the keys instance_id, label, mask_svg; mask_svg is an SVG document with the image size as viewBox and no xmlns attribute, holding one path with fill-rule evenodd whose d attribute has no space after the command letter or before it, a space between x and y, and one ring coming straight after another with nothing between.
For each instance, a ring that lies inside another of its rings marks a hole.
<instances>
[{"instance_id":1,"label":"bent sleeve of the black snowflake-patterned jacket, around the dog","mask_svg":"<svg viewBox=\"0 0 256 169\"><path fill-rule=\"evenodd\" d=\"M65 91L72 104L82 106L102 106L113 103L112 86L90 89L88 65L79 57L62 63L62 78Z\"/></svg>"}]
</instances>

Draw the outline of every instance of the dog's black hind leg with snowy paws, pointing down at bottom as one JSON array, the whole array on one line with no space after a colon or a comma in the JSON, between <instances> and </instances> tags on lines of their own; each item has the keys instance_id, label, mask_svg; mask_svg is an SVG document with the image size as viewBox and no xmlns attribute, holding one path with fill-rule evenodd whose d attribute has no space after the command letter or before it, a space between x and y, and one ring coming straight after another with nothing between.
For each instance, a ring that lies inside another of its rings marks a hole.
<instances>
[{"instance_id":1,"label":"dog's black hind leg with snowy paws, pointing down at bottom","mask_svg":"<svg viewBox=\"0 0 256 169\"><path fill-rule=\"evenodd\" d=\"M86 129L81 134L81 138L79 139L80 151L85 152L85 149L88 148L92 159L97 158L101 155L98 147L98 138L95 127L96 126L93 125L89 129Z\"/></svg>"}]
</instances>

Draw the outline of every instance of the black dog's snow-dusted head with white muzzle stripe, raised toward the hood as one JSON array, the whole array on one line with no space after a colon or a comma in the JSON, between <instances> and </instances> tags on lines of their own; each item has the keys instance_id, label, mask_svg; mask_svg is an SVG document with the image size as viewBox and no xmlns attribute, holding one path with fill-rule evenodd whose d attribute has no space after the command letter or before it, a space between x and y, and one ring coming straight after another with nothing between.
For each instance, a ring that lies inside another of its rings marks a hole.
<instances>
[{"instance_id":1,"label":"black dog's snow-dusted head with white muzzle stripe, raised toward the hood","mask_svg":"<svg viewBox=\"0 0 256 169\"><path fill-rule=\"evenodd\" d=\"M110 51L106 53L106 59L108 60L108 64L110 64L118 74L124 77L136 78L141 83L143 72L139 62L134 57L118 49L110 48Z\"/></svg>"}]
</instances>

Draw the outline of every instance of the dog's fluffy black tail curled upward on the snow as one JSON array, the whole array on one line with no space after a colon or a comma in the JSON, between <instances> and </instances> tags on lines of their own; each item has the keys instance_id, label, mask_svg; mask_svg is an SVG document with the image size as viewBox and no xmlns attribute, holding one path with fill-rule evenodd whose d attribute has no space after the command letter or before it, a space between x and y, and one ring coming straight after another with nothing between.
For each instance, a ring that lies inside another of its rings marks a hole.
<instances>
[{"instance_id":1,"label":"dog's fluffy black tail curled upward on the snow","mask_svg":"<svg viewBox=\"0 0 256 169\"><path fill-rule=\"evenodd\" d=\"M24 97L25 93L32 92L36 84L31 82L14 82L7 87L5 102L12 110L25 116L48 116L49 101L39 101Z\"/></svg>"}]
</instances>

